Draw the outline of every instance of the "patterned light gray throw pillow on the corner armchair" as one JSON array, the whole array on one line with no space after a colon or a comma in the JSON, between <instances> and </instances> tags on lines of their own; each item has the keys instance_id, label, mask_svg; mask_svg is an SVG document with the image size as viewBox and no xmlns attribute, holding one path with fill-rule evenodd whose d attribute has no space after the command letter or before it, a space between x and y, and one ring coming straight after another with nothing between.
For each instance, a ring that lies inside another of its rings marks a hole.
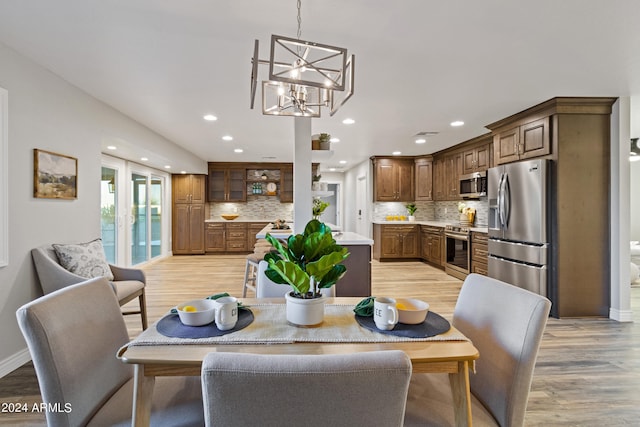
<instances>
[{"instance_id":1,"label":"patterned light gray throw pillow on the corner armchair","mask_svg":"<svg viewBox=\"0 0 640 427\"><path fill-rule=\"evenodd\" d=\"M108 280L113 280L113 273L102 247L102 239L87 243L53 244L52 246L58 255L60 265L70 272L87 279L106 277Z\"/></svg>"}]
</instances>

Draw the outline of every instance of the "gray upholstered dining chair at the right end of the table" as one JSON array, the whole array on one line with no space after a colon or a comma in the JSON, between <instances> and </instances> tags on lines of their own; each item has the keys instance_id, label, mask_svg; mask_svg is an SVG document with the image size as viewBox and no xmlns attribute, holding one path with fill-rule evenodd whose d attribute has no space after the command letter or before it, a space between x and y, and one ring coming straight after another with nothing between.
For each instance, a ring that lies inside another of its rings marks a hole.
<instances>
[{"instance_id":1,"label":"gray upholstered dining chair at the right end of the table","mask_svg":"<svg viewBox=\"0 0 640 427\"><path fill-rule=\"evenodd\" d=\"M496 279L470 274L453 313L453 325L478 349L470 373L473 424L522 426L529 389L551 302ZM406 426L454 425L446 374L414 374Z\"/></svg>"}]
</instances>

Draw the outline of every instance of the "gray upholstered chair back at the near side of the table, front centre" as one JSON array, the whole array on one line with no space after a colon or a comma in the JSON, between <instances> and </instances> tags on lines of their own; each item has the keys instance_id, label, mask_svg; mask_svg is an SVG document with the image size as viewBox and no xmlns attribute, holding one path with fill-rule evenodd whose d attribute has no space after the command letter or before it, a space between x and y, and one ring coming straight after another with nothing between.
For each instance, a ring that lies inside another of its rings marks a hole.
<instances>
[{"instance_id":1,"label":"gray upholstered chair back at the near side of the table, front centre","mask_svg":"<svg viewBox=\"0 0 640 427\"><path fill-rule=\"evenodd\" d=\"M402 351L332 355L210 353L207 426L401 426L411 361Z\"/></svg>"}]
</instances>

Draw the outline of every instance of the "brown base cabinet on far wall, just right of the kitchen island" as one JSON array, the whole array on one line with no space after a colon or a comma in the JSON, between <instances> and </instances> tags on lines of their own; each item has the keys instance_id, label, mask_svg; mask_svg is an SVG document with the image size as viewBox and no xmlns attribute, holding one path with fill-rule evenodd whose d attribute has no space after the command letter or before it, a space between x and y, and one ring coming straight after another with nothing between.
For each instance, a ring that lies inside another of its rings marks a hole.
<instances>
[{"instance_id":1,"label":"brown base cabinet on far wall, just right of the kitchen island","mask_svg":"<svg viewBox=\"0 0 640 427\"><path fill-rule=\"evenodd\" d=\"M419 258L418 226L374 224L373 257L378 260Z\"/></svg>"}]
</instances>

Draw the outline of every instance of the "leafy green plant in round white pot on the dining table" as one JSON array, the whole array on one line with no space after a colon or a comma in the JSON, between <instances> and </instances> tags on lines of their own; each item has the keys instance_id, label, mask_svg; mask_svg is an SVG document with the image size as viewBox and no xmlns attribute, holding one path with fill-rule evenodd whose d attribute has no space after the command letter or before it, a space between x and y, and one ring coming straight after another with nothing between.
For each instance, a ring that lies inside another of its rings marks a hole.
<instances>
[{"instance_id":1,"label":"leafy green plant in round white pot on the dining table","mask_svg":"<svg viewBox=\"0 0 640 427\"><path fill-rule=\"evenodd\" d=\"M338 245L331 229L312 219L302 234L289 236L286 244L267 234L276 252L264 259L269 263L266 276L275 283L289 285L285 294L287 320L301 326L313 326L324 319L324 296L320 289L330 288L347 271L342 264L347 248Z\"/></svg>"}]
</instances>

